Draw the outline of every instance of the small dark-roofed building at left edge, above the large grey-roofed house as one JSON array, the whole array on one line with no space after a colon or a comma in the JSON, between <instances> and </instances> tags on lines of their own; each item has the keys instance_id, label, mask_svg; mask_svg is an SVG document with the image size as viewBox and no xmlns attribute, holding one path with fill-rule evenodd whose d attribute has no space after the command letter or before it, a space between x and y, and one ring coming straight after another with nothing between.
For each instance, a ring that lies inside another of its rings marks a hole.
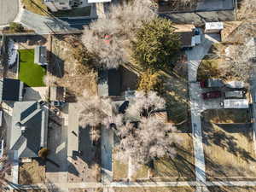
<instances>
[{"instance_id":1,"label":"small dark-roofed building at left edge, above the large grey-roofed house","mask_svg":"<svg viewBox=\"0 0 256 192\"><path fill-rule=\"evenodd\" d=\"M19 79L0 79L0 102L20 102L23 98L24 84Z\"/></svg>"}]
</instances>

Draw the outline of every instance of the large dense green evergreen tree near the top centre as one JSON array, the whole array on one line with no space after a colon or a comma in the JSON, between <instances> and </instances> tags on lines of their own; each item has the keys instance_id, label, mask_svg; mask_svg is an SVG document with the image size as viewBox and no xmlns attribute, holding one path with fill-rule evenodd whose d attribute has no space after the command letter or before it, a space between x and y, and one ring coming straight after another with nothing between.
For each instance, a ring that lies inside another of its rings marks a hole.
<instances>
[{"instance_id":1,"label":"large dense green evergreen tree near the top centre","mask_svg":"<svg viewBox=\"0 0 256 192\"><path fill-rule=\"evenodd\" d=\"M155 18L146 20L132 44L134 61L145 69L165 69L177 61L180 41L172 22Z\"/></svg>"}]
</instances>

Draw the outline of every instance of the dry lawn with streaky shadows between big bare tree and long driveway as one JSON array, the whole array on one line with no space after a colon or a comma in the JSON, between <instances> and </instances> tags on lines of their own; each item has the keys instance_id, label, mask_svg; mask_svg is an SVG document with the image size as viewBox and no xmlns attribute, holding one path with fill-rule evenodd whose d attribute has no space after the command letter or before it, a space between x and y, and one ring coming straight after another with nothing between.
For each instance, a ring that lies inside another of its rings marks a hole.
<instances>
[{"instance_id":1,"label":"dry lawn with streaky shadows between big bare tree and long driveway","mask_svg":"<svg viewBox=\"0 0 256 192\"><path fill-rule=\"evenodd\" d=\"M183 142L176 146L177 155L174 159L155 160L152 176L155 180L160 181L195 181L195 161L191 134L173 134L183 138Z\"/></svg>"}]
</instances>

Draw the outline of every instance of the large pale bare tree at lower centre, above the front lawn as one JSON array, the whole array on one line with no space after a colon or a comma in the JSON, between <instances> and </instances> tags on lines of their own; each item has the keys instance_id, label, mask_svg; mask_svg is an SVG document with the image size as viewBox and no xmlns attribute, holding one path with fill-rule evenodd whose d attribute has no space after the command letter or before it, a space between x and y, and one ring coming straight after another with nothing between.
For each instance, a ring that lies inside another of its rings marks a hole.
<instances>
[{"instance_id":1,"label":"large pale bare tree at lower centre, above the front lawn","mask_svg":"<svg viewBox=\"0 0 256 192\"><path fill-rule=\"evenodd\" d=\"M172 143L177 143L172 131L177 130L163 119L156 116L142 118L137 127L131 122L119 127L119 148L143 164L165 155L172 157L175 155Z\"/></svg>"}]
</instances>

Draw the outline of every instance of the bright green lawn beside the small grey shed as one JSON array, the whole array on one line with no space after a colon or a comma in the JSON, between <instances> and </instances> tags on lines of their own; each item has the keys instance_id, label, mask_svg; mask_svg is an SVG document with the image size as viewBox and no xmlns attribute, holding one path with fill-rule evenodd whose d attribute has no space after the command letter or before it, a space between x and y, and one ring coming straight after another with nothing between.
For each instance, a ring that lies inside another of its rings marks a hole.
<instances>
[{"instance_id":1,"label":"bright green lawn beside the small grey shed","mask_svg":"<svg viewBox=\"0 0 256 192\"><path fill-rule=\"evenodd\" d=\"M20 49L19 79L30 87L42 87L44 85L44 67L34 63L34 49Z\"/></svg>"}]
</instances>

